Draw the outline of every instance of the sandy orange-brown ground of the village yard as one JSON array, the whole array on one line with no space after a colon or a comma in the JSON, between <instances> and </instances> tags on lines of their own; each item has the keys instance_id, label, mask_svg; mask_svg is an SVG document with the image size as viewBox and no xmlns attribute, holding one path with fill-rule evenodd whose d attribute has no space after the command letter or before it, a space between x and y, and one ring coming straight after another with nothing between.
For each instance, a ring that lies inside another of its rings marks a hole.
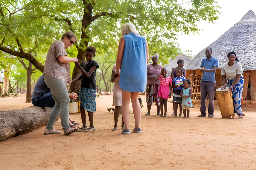
<instances>
[{"instance_id":1,"label":"sandy orange-brown ground of the village yard","mask_svg":"<svg viewBox=\"0 0 256 170\"><path fill-rule=\"evenodd\" d=\"M168 103L167 118L147 113L142 96L142 133L112 131L112 96L97 98L94 132L44 135L45 127L0 142L0 169L256 169L255 109L243 107L244 119L223 119L215 101L214 118L198 118L199 106L190 118L173 118ZM32 106L25 95L0 98L0 110ZM81 122L79 113L70 114ZM88 125L88 117L86 118ZM134 128L130 114L130 130ZM55 129L62 131L60 120Z\"/></svg>"}]
</instances>

